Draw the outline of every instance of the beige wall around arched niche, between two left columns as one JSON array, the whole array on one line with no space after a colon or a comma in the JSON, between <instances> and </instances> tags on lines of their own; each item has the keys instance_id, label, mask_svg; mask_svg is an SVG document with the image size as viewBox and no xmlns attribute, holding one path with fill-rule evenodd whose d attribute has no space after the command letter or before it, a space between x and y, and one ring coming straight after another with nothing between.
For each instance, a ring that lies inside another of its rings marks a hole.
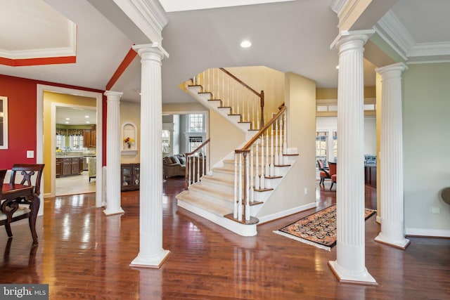
<instances>
[{"instance_id":1,"label":"beige wall around arched niche, between two left columns","mask_svg":"<svg viewBox=\"0 0 450 300\"><path fill-rule=\"evenodd\" d=\"M140 162L141 155L141 103L120 101L120 130L124 123L132 123L136 126L136 145L138 152L135 155L120 155L121 164ZM122 133L121 135L122 136Z\"/></svg>"}]
</instances>

